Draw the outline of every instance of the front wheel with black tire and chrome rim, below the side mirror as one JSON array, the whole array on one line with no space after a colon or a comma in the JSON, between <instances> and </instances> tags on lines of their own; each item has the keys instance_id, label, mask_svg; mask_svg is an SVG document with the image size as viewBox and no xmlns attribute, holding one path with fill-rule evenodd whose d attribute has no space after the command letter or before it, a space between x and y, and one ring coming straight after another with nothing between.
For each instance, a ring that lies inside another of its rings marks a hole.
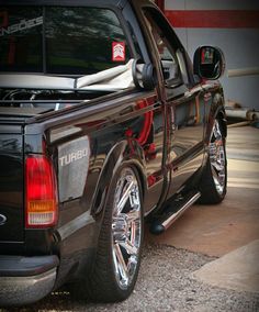
<instances>
[{"instance_id":1,"label":"front wheel with black tire and chrome rim, below the side mirror","mask_svg":"<svg viewBox=\"0 0 259 312\"><path fill-rule=\"evenodd\" d=\"M200 183L200 203L219 203L226 196L227 160L225 144L226 140L216 119L212 129L209 156Z\"/></svg>"}]
</instances>

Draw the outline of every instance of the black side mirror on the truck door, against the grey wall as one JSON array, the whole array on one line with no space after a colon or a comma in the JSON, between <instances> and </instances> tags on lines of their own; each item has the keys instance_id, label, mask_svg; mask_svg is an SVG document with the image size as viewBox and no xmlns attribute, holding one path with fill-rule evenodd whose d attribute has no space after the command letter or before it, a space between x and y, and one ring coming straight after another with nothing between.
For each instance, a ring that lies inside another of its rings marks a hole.
<instances>
[{"instance_id":1,"label":"black side mirror on the truck door, against the grey wall","mask_svg":"<svg viewBox=\"0 0 259 312\"><path fill-rule=\"evenodd\" d=\"M216 80L225 71L225 57L218 47L200 46L194 53L193 66L200 78Z\"/></svg>"}]
</instances>

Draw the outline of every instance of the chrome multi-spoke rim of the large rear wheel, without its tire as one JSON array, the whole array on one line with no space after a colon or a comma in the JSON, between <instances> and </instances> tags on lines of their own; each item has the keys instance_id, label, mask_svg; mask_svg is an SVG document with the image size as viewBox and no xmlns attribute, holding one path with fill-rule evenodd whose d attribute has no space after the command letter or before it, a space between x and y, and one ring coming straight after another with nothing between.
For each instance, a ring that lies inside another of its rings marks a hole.
<instances>
[{"instance_id":1,"label":"chrome multi-spoke rim of the large rear wheel, without its tire","mask_svg":"<svg viewBox=\"0 0 259 312\"><path fill-rule=\"evenodd\" d=\"M112 254L119 286L126 289L136 272L142 241L139 186L134 171L124 168L116 183L112 221Z\"/></svg>"}]
</instances>

